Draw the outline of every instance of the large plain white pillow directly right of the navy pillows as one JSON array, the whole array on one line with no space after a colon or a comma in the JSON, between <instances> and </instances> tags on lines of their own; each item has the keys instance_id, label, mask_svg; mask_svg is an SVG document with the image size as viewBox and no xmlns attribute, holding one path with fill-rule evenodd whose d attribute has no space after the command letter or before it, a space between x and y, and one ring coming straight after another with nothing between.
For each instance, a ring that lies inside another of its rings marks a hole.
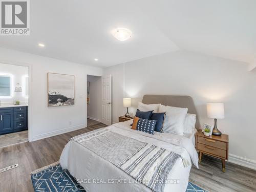
<instances>
[{"instance_id":1,"label":"large plain white pillow directly right of the navy pillows","mask_svg":"<svg viewBox=\"0 0 256 192\"><path fill-rule=\"evenodd\" d=\"M183 136L187 108L176 108L175 106L164 106L161 104L159 107L159 113L163 112L166 112L163 132Z\"/></svg>"}]
</instances>

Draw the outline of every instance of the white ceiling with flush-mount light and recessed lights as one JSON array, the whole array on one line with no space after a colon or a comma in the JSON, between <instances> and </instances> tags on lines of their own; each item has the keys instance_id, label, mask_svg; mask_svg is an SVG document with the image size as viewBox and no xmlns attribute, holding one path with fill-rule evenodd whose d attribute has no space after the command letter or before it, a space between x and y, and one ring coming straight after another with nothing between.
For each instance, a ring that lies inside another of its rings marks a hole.
<instances>
[{"instance_id":1,"label":"white ceiling with flush-mount light and recessed lights","mask_svg":"<svg viewBox=\"0 0 256 192\"><path fill-rule=\"evenodd\" d=\"M0 47L101 67L180 49L248 63L256 58L255 0L30 3L30 36L0 36ZM132 38L116 40L117 27L130 29Z\"/></svg>"}]
</instances>

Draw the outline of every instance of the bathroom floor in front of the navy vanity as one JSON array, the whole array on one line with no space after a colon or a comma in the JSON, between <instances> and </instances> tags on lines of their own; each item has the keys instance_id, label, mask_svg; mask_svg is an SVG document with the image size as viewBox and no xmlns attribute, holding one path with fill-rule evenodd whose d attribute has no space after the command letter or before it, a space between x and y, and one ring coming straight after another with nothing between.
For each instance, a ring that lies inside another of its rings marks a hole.
<instances>
[{"instance_id":1,"label":"bathroom floor in front of the navy vanity","mask_svg":"<svg viewBox=\"0 0 256 192\"><path fill-rule=\"evenodd\" d=\"M28 141L28 130L0 135L0 148Z\"/></svg>"}]
</instances>

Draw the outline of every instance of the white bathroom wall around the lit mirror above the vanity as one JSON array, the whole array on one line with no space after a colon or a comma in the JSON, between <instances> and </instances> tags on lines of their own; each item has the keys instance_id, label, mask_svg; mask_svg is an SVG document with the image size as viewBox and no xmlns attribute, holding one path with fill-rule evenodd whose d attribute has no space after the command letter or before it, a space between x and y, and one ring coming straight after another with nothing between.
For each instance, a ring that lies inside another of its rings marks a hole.
<instances>
[{"instance_id":1,"label":"white bathroom wall around the lit mirror above the vanity","mask_svg":"<svg viewBox=\"0 0 256 192\"><path fill-rule=\"evenodd\" d=\"M19 100L20 104L28 103L28 97L25 96L25 76L28 76L28 67L5 65L0 63L0 74L12 75L12 97L0 97L1 103L13 103L13 100ZM19 83L23 92L14 92L16 84Z\"/></svg>"}]
</instances>

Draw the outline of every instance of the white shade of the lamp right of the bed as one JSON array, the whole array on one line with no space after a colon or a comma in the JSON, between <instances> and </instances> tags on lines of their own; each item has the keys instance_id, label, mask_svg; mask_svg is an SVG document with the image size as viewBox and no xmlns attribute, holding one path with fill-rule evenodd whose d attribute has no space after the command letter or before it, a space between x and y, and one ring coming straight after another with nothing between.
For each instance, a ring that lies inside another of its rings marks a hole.
<instances>
[{"instance_id":1,"label":"white shade of the lamp right of the bed","mask_svg":"<svg viewBox=\"0 0 256 192\"><path fill-rule=\"evenodd\" d=\"M223 103L207 103L207 116L212 119L223 119L224 104Z\"/></svg>"}]
</instances>

